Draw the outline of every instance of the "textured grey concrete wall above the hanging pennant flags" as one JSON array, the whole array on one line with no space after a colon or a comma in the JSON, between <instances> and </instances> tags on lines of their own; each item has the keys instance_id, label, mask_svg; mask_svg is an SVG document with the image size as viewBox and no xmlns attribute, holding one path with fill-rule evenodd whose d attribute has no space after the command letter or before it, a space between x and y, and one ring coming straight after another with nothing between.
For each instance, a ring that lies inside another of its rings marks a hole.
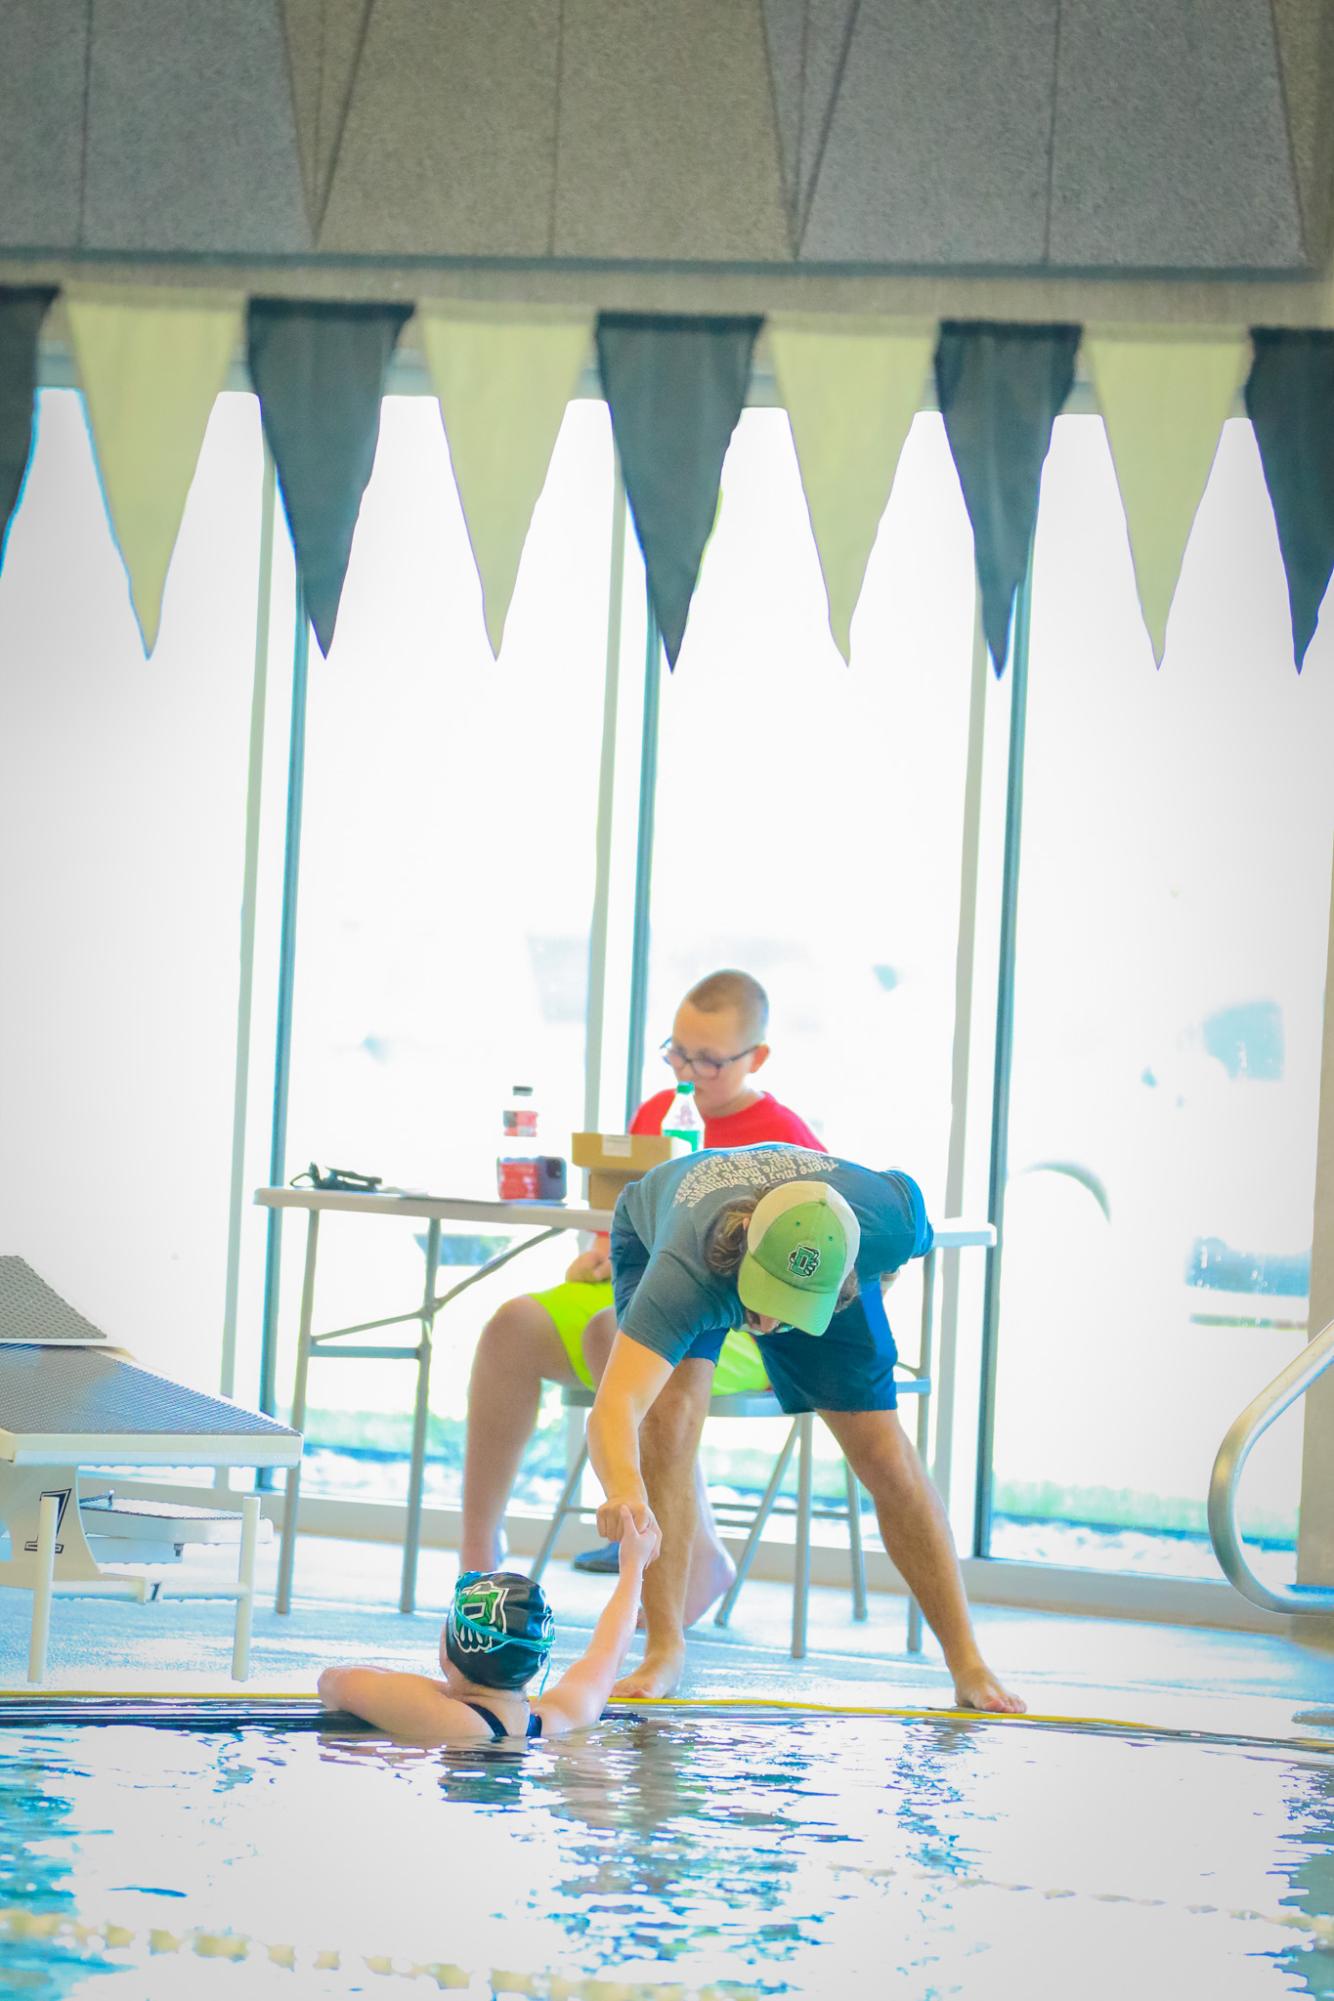
<instances>
[{"instance_id":1,"label":"textured grey concrete wall above the hanging pennant flags","mask_svg":"<svg viewBox=\"0 0 1334 2001\"><path fill-rule=\"evenodd\" d=\"M4 0L0 252L1324 266L1330 0Z\"/></svg>"}]
</instances>

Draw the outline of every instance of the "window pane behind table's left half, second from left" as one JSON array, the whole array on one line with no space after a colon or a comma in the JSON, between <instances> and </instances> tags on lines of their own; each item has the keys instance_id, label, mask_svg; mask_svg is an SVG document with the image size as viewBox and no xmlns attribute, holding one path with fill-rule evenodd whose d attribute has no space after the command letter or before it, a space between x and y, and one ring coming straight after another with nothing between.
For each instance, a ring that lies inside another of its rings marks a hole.
<instances>
[{"instance_id":1,"label":"window pane behind table's left half, second from left","mask_svg":"<svg viewBox=\"0 0 1334 2001\"><path fill-rule=\"evenodd\" d=\"M610 508L606 408L574 402L496 662L438 404L384 402L338 636L310 660L288 1173L332 1161L400 1187L492 1191L514 1083L534 1085L550 1151L568 1153L584 1095ZM426 1225L328 1219L318 1325L412 1307L424 1237ZM448 1233L442 1287L486 1251ZM462 1421L484 1313L568 1257L568 1245L536 1253L442 1317L432 1393L446 1427ZM290 1233L282 1403L298 1279ZM402 1365L326 1365L310 1401L316 1445L406 1445ZM318 1475L316 1461L316 1489Z\"/></svg>"}]
</instances>

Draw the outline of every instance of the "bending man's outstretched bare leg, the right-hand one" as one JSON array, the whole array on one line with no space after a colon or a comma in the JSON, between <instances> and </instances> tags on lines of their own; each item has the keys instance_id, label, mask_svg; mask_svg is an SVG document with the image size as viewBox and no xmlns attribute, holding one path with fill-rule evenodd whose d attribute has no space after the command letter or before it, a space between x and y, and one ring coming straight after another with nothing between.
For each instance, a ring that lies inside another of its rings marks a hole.
<instances>
[{"instance_id":1,"label":"bending man's outstretched bare leg, the right-hand one","mask_svg":"<svg viewBox=\"0 0 1334 2001\"><path fill-rule=\"evenodd\" d=\"M946 1511L896 1413L820 1411L820 1417L876 1503L884 1547L940 1641L958 1707L1022 1715L1026 1703L1002 1689L978 1653Z\"/></svg>"}]
</instances>

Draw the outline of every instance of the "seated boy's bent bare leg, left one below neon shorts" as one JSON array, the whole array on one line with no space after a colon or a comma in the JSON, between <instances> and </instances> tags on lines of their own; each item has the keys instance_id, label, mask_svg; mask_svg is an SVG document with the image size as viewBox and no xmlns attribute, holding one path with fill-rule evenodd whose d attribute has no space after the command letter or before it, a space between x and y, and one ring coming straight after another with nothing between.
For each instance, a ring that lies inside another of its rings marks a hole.
<instances>
[{"instance_id":1,"label":"seated boy's bent bare leg, left one below neon shorts","mask_svg":"<svg viewBox=\"0 0 1334 2001\"><path fill-rule=\"evenodd\" d=\"M500 1563L500 1523L538 1423L542 1383L578 1383L578 1377L546 1307L508 1299L482 1329L472 1357L458 1541L464 1571L494 1571Z\"/></svg>"}]
</instances>

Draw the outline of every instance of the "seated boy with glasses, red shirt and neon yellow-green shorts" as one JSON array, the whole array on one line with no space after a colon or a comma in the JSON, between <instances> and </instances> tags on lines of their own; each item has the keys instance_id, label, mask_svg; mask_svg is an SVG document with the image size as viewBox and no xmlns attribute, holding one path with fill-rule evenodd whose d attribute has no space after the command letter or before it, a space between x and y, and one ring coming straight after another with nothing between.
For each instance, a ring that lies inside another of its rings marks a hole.
<instances>
[{"instance_id":1,"label":"seated boy with glasses, red shirt and neon yellow-green shorts","mask_svg":"<svg viewBox=\"0 0 1334 2001\"><path fill-rule=\"evenodd\" d=\"M704 1119L704 1145L752 1147L760 1141L790 1141L820 1149L804 1119L754 1085L768 1061L768 994L748 972L722 970L698 980L680 1003L662 1059L676 1079L694 1081L694 1097ZM640 1105L632 1133L660 1133L674 1087ZM482 1329L468 1385L468 1445L464 1455L464 1521L460 1563L464 1571L492 1571L500 1559L500 1525L524 1447L538 1421L544 1383L594 1389L616 1333L612 1311L612 1267L606 1237L582 1251L566 1271L566 1283L546 1293L510 1299ZM718 1357L714 1395L768 1389L764 1363L750 1335L728 1335ZM664 1399L670 1419L674 1399ZM676 1453L676 1439L666 1441ZM696 1467L686 1623L694 1623L722 1597L734 1565L722 1547L718 1527ZM596 1553L592 1563L600 1561ZM608 1567L614 1569L612 1549Z\"/></svg>"}]
</instances>

